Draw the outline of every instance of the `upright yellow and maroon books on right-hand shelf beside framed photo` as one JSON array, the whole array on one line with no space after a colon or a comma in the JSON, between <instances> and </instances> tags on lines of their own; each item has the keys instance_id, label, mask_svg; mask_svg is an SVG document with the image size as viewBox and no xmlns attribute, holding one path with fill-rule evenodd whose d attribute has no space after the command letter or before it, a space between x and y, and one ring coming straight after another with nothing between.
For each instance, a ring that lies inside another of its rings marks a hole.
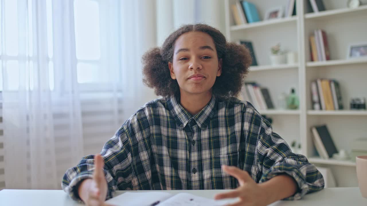
<instances>
[{"instance_id":1,"label":"upright yellow and maroon books on right-hand shelf beside framed photo","mask_svg":"<svg viewBox=\"0 0 367 206\"><path fill-rule=\"evenodd\" d=\"M312 61L325 61L330 60L330 50L327 43L326 32L321 29L316 29L311 34L310 48L311 48L311 60Z\"/></svg>"}]
</instances>

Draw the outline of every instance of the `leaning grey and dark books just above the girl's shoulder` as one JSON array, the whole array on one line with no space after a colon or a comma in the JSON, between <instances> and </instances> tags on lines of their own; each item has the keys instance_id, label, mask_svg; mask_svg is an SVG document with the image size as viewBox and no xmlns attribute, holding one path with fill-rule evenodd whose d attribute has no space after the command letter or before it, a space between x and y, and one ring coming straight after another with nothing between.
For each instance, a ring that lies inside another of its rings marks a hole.
<instances>
[{"instance_id":1,"label":"leaning grey and dark books just above the girl's shoulder","mask_svg":"<svg viewBox=\"0 0 367 206\"><path fill-rule=\"evenodd\" d=\"M242 88L243 98L250 102L256 109L274 109L274 104L270 98L267 88L261 88L256 82L248 82Z\"/></svg>"}]
</instances>

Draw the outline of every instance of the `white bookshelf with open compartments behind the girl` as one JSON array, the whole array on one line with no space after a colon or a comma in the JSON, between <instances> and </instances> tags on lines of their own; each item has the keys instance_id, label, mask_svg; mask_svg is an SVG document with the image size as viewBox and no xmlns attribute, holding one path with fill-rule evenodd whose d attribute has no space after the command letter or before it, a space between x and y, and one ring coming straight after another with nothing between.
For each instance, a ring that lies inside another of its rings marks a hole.
<instances>
[{"instance_id":1,"label":"white bookshelf with open compartments behind the girl","mask_svg":"<svg viewBox=\"0 0 367 206\"><path fill-rule=\"evenodd\" d=\"M260 19L266 10L287 5L287 0L248 0L257 7ZM274 132L288 143L301 142L302 154L319 166L328 166L338 187L356 187L355 162L315 157L315 147L310 128L326 124L337 148L350 152L354 139L366 138L367 111L350 110L349 99L367 98L367 58L347 59L348 46L367 42L367 5L346 8L346 0L323 0L326 11L306 13L306 0L296 0L297 15L269 21L235 25L230 5L235 0L225 1L226 37L229 41L252 41L259 66L251 66L247 82L257 82L269 89L275 110L258 110L273 119ZM315 29L323 29L328 36L331 60L310 60L309 35ZM283 49L296 51L295 65L271 65L270 47L281 43ZM333 78L339 81L345 110L312 110L310 83L316 78ZM298 110L281 110L277 97L295 88L299 95ZM348 176L348 179L345 179Z\"/></svg>"}]
</instances>

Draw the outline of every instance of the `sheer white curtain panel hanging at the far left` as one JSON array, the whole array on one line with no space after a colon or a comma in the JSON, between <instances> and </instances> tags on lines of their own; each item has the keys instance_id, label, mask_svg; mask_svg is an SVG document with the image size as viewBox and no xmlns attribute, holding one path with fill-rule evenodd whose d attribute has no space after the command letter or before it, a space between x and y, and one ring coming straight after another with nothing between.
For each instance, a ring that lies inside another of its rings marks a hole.
<instances>
[{"instance_id":1,"label":"sheer white curtain panel hanging at the far left","mask_svg":"<svg viewBox=\"0 0 367 206\"><path fill-rule=\"evenodd\" d=\"M73 2L5 0L1 11L6 188L59 188L55 144L69 162L83 151Z\"/></svg>"}]
</instances>

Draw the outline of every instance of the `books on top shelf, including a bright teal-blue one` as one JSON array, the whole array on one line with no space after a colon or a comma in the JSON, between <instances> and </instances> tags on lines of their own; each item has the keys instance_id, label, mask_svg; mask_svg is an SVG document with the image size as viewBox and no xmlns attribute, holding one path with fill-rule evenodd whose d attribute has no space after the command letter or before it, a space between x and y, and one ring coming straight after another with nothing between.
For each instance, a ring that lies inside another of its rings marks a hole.
<instances>
[{"instance_id":1,"label":"books on top shelf, including a bright teal-blue one","mask_svg":"<svg viewBox=\"0 0 367 206\"><path fill-rule=\"evenodd\" d=\"M231 9L236 25L260 21L255 5L248 1L236 1L236 4L231 5Z\"/></svg>"}]
</instances>

